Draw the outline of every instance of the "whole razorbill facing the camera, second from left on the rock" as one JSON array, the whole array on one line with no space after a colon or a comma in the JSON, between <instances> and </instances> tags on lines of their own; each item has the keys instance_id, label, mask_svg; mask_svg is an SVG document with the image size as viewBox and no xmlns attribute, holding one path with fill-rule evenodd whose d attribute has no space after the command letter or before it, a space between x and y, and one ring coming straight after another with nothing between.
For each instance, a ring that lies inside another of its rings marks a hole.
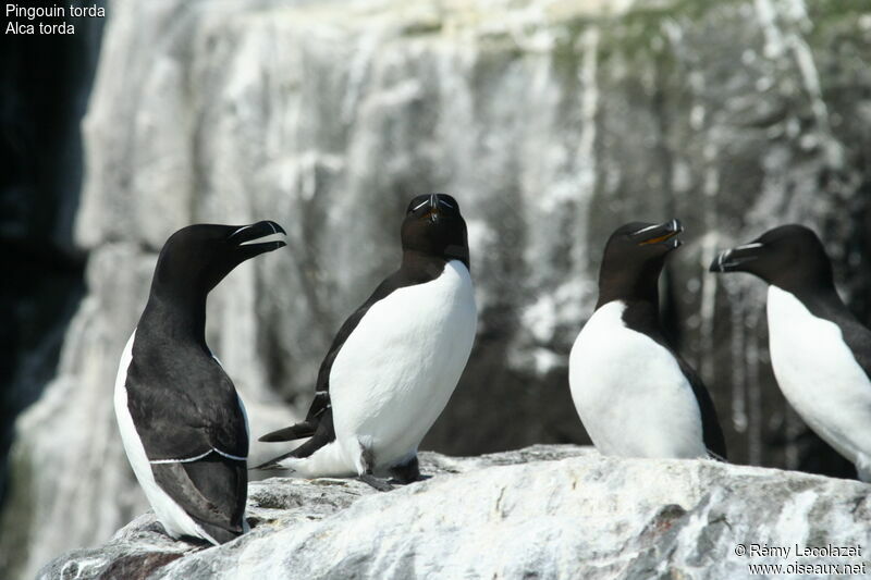
<instances>
[{"instance_id":1,"label":"whole razorbill facing the camera, second from left on the rock","mask_svg":"<svg viewBox=\"0 0 871 580\"><path fill-rule=\"evenodd\" d=\"M306 419L260 441L311 439L260 468L357 476L381 490L380 476L419 479L417 447L463 373L477 308L456 199L415 197L401 233L400 269L342 324Z\"/></svg>"}]
</instances>

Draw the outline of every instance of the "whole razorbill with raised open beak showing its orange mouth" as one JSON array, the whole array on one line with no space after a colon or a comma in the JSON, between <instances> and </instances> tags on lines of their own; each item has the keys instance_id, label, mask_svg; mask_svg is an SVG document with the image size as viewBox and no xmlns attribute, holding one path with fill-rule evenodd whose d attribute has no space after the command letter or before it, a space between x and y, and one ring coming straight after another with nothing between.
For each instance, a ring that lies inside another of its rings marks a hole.
<instances>
[{"instance_id":1,"label":"whole razorbill with raised open beak showing its orange mouth","mask_svg":"<svg viewBox=\"0 0 871 580\"><path fill-rule=\"evenodd\" d=\"M726 457L708 391L660 329L657 282L682 231L677 220L628 223L605 245L599 301L568 362L575 407L604 455Z\"/></svg>"}]
</instances>

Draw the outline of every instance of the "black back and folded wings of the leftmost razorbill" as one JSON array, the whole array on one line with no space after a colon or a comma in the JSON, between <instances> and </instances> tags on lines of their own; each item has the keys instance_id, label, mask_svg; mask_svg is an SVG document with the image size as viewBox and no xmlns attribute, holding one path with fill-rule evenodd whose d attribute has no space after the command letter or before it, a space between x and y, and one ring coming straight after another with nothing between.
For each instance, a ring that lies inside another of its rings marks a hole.
<instances>
[{"instance_id":1,"label":"black back and folded wings of the leftmost razorbill","mask_svg":"<svg viewBox=\"0 0 871 580\"><path fill-rule=\"evenodd\" d=\"M232 381L206 350L139 334L127 408L155 481L218 542L243 532L248 432Z\"/></svg>"}]
</instances>

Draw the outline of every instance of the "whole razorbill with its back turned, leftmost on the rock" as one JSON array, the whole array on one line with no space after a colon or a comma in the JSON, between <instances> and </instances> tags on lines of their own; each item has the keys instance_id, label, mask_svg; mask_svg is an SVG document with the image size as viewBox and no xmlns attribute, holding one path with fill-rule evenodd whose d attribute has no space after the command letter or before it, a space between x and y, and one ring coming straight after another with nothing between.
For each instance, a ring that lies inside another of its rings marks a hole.
<instances>
[{"instance_id":1,"label":"whole razorbill with its back turned, leftmost on the rock","mask_svg":"<svg viewBox=\"0 0 871 580\"><path fill-rule=\"evenodd\" d=\"M124 451L173 538L221 544L247 530L247 418L206 345L206 295L243 261L284 246L283 234L269 221L175 232L121 356L114 406Z\"/></svg>"}]
</instances>

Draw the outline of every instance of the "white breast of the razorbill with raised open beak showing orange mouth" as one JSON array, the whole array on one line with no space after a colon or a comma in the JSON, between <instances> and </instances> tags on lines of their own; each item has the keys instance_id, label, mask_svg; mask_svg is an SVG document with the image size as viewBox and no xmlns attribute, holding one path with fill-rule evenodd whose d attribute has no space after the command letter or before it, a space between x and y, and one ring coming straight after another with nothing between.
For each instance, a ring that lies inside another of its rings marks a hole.
<instances>
[{"instance_id":1,"label":"white breast of the razorbill with raised open beak showing orange mouth","mask_svg":"<svg viewBox=\"0 0 871 580\"><path fill-rule=\"evenodd\" d=\"M572 398L604 455L704 457L698 403L674 356L626 328L619 300L580 331L568 365Z\"/></svg>"}]
</instances>

